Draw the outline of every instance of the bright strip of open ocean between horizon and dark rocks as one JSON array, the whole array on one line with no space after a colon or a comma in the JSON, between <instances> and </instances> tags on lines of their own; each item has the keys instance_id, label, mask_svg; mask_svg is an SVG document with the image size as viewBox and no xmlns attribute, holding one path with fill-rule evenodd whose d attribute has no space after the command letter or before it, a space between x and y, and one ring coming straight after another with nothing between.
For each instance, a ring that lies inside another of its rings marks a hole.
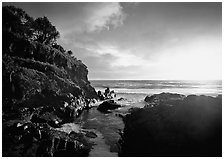
<instances>
[{"instance_id":1,"label":"bright strip of open ocean between horizon and dark rocks","mask_svg":"<svg viewBox=\"0 0 224 159\"><path fill-rule=\"evenodd\" d=\"M117 94L152 95L162 92L179 93L184 95L222 94L221 80L91 80L96 91L109 87Z\"/></svg>"}]
</instances>

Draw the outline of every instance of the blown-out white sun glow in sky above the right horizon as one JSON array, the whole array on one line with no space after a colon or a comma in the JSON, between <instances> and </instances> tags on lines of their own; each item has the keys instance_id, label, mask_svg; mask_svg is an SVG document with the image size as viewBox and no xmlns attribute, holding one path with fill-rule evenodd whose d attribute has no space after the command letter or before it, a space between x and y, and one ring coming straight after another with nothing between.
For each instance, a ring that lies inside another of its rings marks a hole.
<instances>
[{"instance_id":1,"label":"blown-out white sun glow in sky above the right horizon","mask_svg":"<svg viewBox=\"0 0 224 159\"><path fill-rule=\"evenodd\" d=\"M195 39L166 50L156 64L158 71L168 79L221 79L221 55L216 47L218 41L211 41Z\"/></svg>"}]
</instances>

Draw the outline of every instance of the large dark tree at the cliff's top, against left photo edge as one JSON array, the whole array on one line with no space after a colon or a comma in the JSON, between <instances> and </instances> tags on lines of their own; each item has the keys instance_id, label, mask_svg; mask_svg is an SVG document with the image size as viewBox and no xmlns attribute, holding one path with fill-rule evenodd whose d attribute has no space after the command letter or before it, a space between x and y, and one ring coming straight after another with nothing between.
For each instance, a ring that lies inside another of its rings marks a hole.
<instances>
[{"instance_id":1,"label":"large dark tree at the cliff's top, against left photo edge","mask_svg":"<svg viewBox=\"0 0 224 159\"><path fill-rule=\"evenodd\" d=\"M2 7L2 52L24 55L33 36L33 18L14 6Z\"/></svg>"}]
</instances>

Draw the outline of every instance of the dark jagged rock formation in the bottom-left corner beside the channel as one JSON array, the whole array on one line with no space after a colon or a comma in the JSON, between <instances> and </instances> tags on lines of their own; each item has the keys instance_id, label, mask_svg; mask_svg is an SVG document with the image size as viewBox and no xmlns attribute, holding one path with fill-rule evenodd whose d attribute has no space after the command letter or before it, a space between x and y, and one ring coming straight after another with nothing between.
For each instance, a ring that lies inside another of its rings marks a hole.
<instances>
[{"instance_id":1,"label":"dark jagged rock formation in the bottom-left corner beside the channel","mask_svg":"<svg viewBox=\"0 0 224 159\"><path fill-rule=\"evenodd\" d=\"M3 156L88 156L91 149L84 136L71 136L43 123L17 123L6 128L8 147L4 147L7 151L3 151Z\"/></svg>"}]
</instances>

